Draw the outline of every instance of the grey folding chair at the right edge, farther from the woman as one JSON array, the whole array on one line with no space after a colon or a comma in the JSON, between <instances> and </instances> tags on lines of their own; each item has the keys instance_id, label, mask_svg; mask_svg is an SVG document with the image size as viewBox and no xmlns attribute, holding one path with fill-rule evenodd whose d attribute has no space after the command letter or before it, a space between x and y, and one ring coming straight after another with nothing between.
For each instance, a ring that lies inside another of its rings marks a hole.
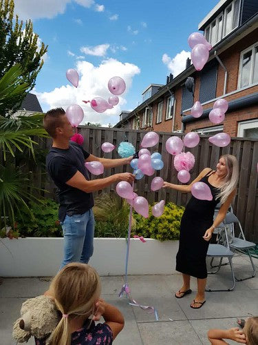
<instances>
[{"instance_id":1,"label":"grey folding chair at the right edge, farther from the woman","mask_svg":"<svg viewBox=\"0 0 258 345\"><path fill-rule=\"evenodd\" d=\"M230 242L230 244L229 244L230 249L233 251L237 250L239 252L242 252L243 250L245 250L249 256L250 263L252 265L252 275L250 277L246 277L246 278L237 278L236 277L237 281L241 282L243 280L255 277L256 268L255 268L255 265L252 261L252 256L250 255L249 249L255 248L256 244L253 242L246 241L246 237L244 236L244 231L241 227L240 221L232 212L227 213L226 218L224 219L224 224L225 224L225 226L230 226L230 229L233 233L233 242ZM239 225L239 229L240 229L239 237L235 237L235 224Z\"/></svg>"}]
</instances>

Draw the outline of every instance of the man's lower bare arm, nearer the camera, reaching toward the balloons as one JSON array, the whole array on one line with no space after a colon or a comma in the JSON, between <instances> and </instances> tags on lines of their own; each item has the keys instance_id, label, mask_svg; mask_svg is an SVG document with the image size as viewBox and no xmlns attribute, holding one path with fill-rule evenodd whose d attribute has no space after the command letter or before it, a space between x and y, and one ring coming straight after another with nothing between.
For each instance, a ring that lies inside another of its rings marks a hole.
<instances>
[{"instance_id":1,"label":"man's lower bare arm, nearer the camera, reaching toward the balloons","mask_svg":"<svg viewBox=\"0 0 258 345\"><path fill-rule=\"evenodd\" d=\"M127 181L131 183L133 180L133 174L130 172L122 172L121 174L105 177L105 179L94 179L92 181L88 181L81 172L77 171L74 176L65 183L68 186L83 190L83 192L92 193L95 190L103 189L114 182Z\"/></svg>"}]
</instances>

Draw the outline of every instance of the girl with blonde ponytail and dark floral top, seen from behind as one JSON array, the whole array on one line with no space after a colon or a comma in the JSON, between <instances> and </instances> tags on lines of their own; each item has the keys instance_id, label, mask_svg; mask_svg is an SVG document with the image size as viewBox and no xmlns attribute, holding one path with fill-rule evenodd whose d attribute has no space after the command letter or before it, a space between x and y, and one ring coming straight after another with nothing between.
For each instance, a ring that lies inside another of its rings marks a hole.
<instances>
[{"instance_id":1,"label":"girl with blonde ponytail and dark floral top, seen from behind","mask_svg":"<svg viewBox=\"0 0 258 345\"><path fill-rule=\"evenodd\" d=\"M100 299L100 291L100 277L87 264L74 262L58 272L46 293L61 312L50 345L112 344L125 322L116 307ZM101 316L105 323L95 324ZM36 345L45 345L45 340L36 339Z\"/></svg>"}]
</instances>

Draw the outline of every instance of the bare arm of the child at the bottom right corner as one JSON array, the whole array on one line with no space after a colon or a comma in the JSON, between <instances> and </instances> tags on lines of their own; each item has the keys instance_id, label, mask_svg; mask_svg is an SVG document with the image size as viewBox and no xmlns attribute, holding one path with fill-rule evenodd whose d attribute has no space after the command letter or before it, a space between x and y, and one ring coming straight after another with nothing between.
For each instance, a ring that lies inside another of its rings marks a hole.
<instances>
[{"instance_id":1,"label":"bare arm of the child at the bottom right corner","mask_svg":"<svg viewBox=\"0 0 258 345\"><path fill-rule=\"evenodd\" d=\"M239 328L230 329L210 329L208 331L208 339L212 345L224 345L228 344L223 339L234 340L235 342L246 344L246 336Z\"/></svg>"}]
</instances>

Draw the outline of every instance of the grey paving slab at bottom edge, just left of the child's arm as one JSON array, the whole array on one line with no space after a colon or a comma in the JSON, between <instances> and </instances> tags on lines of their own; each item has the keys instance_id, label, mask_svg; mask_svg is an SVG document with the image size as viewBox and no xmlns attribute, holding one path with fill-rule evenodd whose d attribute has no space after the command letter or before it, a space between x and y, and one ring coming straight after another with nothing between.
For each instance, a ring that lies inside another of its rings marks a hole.
<instances>
[{"instance_id":1,"label":"grey paving slab at bottom edge, just left of the child's arm","mask_svg":"<svg viewBox=\"0 0 258 345\"><path fill-rule=\"evenodd\" d=\"M202 345L189 321L138 324L144 345ZM133 343L132 343L133 344Z\"/></svg>"}]
</instances>

